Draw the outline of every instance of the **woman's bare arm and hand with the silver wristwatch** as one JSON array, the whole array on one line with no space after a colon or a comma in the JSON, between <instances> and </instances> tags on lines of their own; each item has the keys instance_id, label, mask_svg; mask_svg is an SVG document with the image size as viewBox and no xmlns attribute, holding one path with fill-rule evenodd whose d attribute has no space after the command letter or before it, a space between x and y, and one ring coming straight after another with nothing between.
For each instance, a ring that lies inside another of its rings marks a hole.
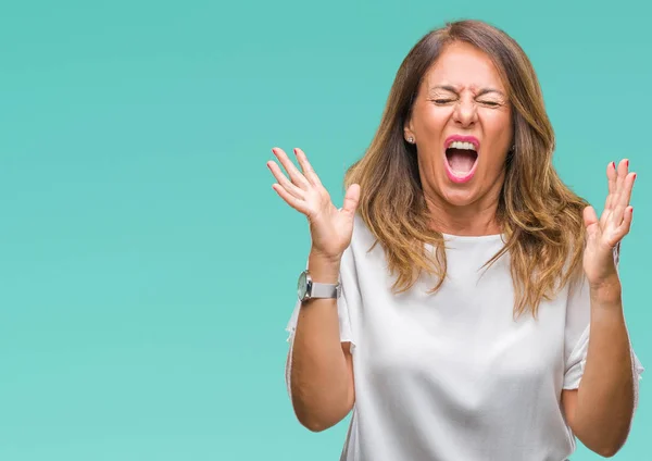
<instances>
[{"instance_id":1,"label":"woman's bare arm and hand with the silver wristwatch","mask_svg":"<svg viewBox=\"0 0 652 461\"><path fill-rule=\"evenodd\" d=\"M278 180L272 187L310 224L308 270L315 282L337 283L353 235L360 186L349 186L343 207L337 209L301 149L294 149L301 171L281 149L272 151L289 176L275 162L267 162ZM291 344L288 387L294 412L309 429L324 431L341 421L355 400L351 346L340 340L337 300L314 299L301 306Z\"/></svg>"}]
</instances>

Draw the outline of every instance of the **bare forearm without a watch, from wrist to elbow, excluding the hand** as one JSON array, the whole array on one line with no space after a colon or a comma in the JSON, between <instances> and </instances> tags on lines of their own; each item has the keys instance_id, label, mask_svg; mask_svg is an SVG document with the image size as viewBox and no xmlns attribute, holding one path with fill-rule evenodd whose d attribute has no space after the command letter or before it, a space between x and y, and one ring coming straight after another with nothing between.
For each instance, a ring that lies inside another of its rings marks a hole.
<instances>
[{"instance_id":1,"label":"bare forearm without a watch, from wrist to elbow, excluding the hand","mask_svg":"<svg viewBox=\"0 0 652 461\"><path fill-rule=\"evenodd\" d=\"M577 395L575 433L589 448L612 454L625 443L634 412L629 337L617 278L591 289L589 349Z\"/></svg>"}]
</instances>

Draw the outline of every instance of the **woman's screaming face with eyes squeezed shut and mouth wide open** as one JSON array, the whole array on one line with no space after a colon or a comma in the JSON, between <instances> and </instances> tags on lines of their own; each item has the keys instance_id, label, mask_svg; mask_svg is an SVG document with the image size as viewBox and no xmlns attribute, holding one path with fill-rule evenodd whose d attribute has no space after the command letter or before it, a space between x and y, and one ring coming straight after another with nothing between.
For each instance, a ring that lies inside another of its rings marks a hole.
<instances>
[{"instance_id":1,"label":"woman's screaming face with eyes squeezed shut and mouth wide open","mask_svg":"<svg viewBox=\"0 0 652 461\"><path fill-rule=\"evenodd\" d=\"M512 146L512 110L489 57L449 45L426 73L404 127L426 199L442 208L497 203Z\"/></svg>"}]
</instances>

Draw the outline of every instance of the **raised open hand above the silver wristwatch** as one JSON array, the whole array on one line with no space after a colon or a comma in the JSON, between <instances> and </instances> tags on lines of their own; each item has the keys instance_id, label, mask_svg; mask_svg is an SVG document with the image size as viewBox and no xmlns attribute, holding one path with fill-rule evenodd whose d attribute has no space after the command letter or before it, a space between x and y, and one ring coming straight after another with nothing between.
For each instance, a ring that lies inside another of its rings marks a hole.
<instances>
[{"instance_id":1,"label":"raised open hand above the silver wristwatch","mask_svg":"<svg viewBox=\"0 0 652 461\"><path fill-rule=\"evenodd\" d=\"M343 207L338 210L301 149L294 149L294 154L302 172L294 166L283 149L274 148L272 152L289 176L288 179L276 162L271 160L267 166L278 182L272 187L286 203L308 217L312 252L339 262L351 244L353 217L360 201L360 186L353 184L349 187Z\"/></svg>"}]
</instances>

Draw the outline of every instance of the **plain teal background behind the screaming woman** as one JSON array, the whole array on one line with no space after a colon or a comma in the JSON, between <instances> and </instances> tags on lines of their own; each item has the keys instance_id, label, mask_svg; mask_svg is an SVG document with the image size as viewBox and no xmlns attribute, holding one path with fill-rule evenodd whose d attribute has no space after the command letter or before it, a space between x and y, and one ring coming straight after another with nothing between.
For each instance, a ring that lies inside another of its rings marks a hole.
<instances>
[{"instance_id":1,"label":"plain teal background behind the screaming woman","mask_svg":"<svg viewBox=\"0 0 652 461\"><path fill-rule=\"evenodd\" d=\"M0 459L338 459L349 420L310 433L286 394L310 239L265 162L302 147L340 203L403 57L461 17L531 58L576 191L601 209L607 162L639 173L622 276L652 366L642 0L4 2ZM615 459L648 457L641 391Z\"/></svg>"}]
</instances>

